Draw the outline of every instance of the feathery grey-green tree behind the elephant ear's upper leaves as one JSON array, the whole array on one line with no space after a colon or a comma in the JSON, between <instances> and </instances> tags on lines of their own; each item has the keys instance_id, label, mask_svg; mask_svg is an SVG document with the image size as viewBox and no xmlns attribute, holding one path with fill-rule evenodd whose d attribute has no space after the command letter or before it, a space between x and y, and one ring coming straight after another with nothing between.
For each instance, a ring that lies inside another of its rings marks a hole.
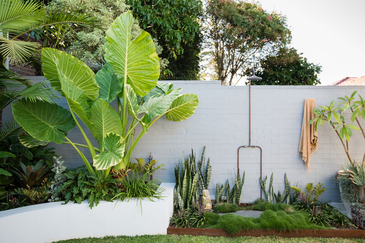
<instances>
[{"instance_id":1,"label":"feathery grey-green tree behind the elephant ear's upper leaves","mask_svg":"<svg viewBox=\"0 0 365 243\"><path fill-rule=\"evenodd\" d=\"M48 11L52 9L71 11L78 6L79 11L103 19L107 27L122 13L129 9L125 0L53 0L48 5ZM132 36L137 37L142 31L137 21L132 20ZM105 43L104 30L80 28L78 38L74 42L64 43L64 50L85 62L93 71L100 70L105 64L103 45ZM157 54L161 54L162 47L154 40ZM161 70L166 68L168 61L160 59Z\"/></svg>"}]
</instances>

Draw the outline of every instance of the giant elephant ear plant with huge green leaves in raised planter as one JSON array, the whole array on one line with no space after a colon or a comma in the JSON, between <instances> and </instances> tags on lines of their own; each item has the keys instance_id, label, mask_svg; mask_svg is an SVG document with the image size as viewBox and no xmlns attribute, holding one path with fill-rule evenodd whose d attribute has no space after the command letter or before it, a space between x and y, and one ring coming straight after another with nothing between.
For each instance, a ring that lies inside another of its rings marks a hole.
<instances>
[{"instance_id":1,"label":"giant elephant ear plant with huge green leaves in raised planter","mask_svg":"<svg viewBox=\"0 0 365 243\"><path fill-rule=\"evenodd\" d=\"M42 101L16 101L12 104L15 120L39 142L49 141L73 146L89 173L107 177L129 168L131 154L139 140L158 118L170 121L190 117L197 105L196 94L180 94L181 88L157 82L160 61L150 34L142 31L131 38L132 15L120 15L106 32L104 67L94 72L65 52L43 48L42 68L53 89L65 97L69 110ZM110 103L117 100L118 112ZM95 148L81 120L98 142ZM76 144L67 132L76 126L86 141ZM134 137L137 126L142 130ZM66 140L66 141L65 141ZM88 148L93 166L79 148Z\"/></svg>"}]
</instances>

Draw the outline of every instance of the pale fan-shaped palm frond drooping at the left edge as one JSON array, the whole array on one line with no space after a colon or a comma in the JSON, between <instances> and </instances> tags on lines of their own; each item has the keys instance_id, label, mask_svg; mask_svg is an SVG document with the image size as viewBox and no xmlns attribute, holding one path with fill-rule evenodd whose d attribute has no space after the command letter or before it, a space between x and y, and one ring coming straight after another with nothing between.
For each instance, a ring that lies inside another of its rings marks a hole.
<instances>
[{"instance_id":1,"label":"pale fan-shaped palm frond drooping at the left edge","mask_svg":"<svg viewBox=\"0 0 365 243\"><path fill-rule=\"evenodd\" d=\"M39 52L39 47L37 42L10 40L0 36L0 55L9 58L13 64L26 63L28 58Z\"/></svg>"}]
</instances>

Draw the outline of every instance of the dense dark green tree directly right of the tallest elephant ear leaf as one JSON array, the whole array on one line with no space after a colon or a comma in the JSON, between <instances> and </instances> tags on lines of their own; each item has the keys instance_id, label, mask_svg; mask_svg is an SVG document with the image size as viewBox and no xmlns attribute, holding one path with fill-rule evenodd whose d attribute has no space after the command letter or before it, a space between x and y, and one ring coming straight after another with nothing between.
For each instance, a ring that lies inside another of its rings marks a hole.
<instances>
[{"instance_id":1,"label":"dense dark green tree directly right of the tallest elephant ear leaf","mask_svg":"<svg viewBox=\"0 0 365 243\"><path fill-rule=\"evenodd\" d=\"M127 0L141 28L162 45L162 58L169 65L160 77L196 79L199 72L200 27L199 0Z\"/></svg>"}]
</instances>

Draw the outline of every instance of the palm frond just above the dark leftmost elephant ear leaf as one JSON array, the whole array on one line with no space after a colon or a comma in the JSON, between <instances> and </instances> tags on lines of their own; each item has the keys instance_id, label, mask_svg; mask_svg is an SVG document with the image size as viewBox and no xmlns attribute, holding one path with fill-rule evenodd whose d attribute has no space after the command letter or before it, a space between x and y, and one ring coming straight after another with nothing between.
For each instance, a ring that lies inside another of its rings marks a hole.
<instances>
[{"instance_id":1,"label":"palm frond just above the dark leftmost elephant ear leaf","mask_svg":"<svg viewBox=\"0 0 365 243\"><path fill-rule=\"evenodd\" d=\"M55 90L45 85L46 82L47 81L36 83L31 87L27 87L18 94L18 97L31 102L35 102L36 99L39 99L44 102L54 103L53 99L59 99L59 97L55 95Z\"/></svg>"}]
</instances>

